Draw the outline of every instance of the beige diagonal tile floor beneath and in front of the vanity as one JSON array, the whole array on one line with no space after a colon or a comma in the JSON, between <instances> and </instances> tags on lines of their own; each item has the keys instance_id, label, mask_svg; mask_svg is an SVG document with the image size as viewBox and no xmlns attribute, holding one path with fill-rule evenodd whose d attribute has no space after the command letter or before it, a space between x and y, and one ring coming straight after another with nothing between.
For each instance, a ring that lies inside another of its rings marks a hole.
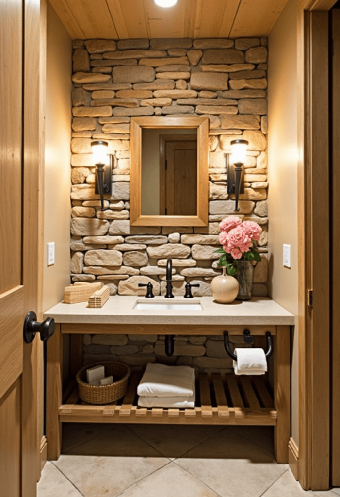
<instances>
[{"instance_id":1,"label":"beige diagonal tile floor beneath and in front of the vanity","mask_svg":"<svg viewBox=\"0 0 340 497\"><path fill-rule=\"evenodd\" d=\"M38 497L339 497L304 492L269 426L63 424Z\"/></svg>"}]
</instances>

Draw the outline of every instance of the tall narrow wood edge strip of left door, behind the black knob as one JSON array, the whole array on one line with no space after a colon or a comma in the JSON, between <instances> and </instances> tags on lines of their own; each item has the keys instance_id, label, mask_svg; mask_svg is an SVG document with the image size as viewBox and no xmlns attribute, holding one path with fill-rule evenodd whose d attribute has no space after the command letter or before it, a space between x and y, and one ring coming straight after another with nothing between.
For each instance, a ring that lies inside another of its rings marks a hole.
<instances>
[{"instance_id":1,"label":"tall narrow wood edge strip of left door, behind the black knob","mask_svg":"<svg viewBox=\"0 0 340 497\"><path fill-rule=\"evenodd\" d=\"M23 42L23 286L25 311L43 315L46 0L24 1ZM21 380L23 497L36 495L42 445L43 347L24 343Z\"/></svg>"}]
</instances>

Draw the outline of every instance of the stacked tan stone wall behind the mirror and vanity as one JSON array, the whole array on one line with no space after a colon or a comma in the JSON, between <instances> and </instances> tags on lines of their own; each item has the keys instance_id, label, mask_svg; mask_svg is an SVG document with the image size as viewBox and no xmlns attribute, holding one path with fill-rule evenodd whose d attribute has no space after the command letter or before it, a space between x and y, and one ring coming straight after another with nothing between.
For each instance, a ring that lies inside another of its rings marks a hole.
<instances>
[{"instance_id":1,"label":"stacked tan stone wall behind the mirror and vanity","mask_svg":"<svg viewBox=\"0 0 340 497\"><path fill-rule=\"evenodd\" d=\"M138 283L151 281L154 293L164 295L166 258L172 257L175 296L184 295L187 281L200 283L194 295L211 295L210 281L220 274L218 224L235 205L226 193L225 155L231 140L244 138L249 150L237 215L262 227L254 295L267 295L267 39L75 40L73 48L72 281L98 280L120 295L144 295ZM209 119L209 225L131 227L130 119L179 115ZM108 141L114 156L105 211L94 193L90 142L96 139ZM164 358L159 340L86 335L85 360L114 354L142 365ZM177 355L168 362L221 368L218 361L226 361L219 340L180 337L175 343Z\"/></svg>"}]
</instances>

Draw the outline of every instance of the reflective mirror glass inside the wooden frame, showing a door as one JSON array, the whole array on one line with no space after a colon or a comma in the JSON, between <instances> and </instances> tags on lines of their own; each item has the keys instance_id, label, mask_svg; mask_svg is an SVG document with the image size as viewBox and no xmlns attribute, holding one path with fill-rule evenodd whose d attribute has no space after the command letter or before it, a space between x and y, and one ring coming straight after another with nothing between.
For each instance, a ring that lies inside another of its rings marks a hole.
<instances>
[{"instance_id":1,"label":"reflective mirror glass inside the wooden frame, showing a door","mask_svg":"<svg viewBox=\"0 0 340 497\"><path fill-rule=\"evenodd\" d=\"M197 215L197 130L142 130L142 215Z\"/></svg>"}]
</instances>

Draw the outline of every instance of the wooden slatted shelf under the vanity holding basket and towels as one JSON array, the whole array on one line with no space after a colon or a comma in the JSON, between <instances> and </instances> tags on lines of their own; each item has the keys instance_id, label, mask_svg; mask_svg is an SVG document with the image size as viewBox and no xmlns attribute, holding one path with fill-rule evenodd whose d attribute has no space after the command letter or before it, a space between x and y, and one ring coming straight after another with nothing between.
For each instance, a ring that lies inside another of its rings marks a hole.
<instances>
[{"instance_id":1,"label":"wooden slatted shelf under the vanity holding basket and towels","mask_svg":"<svg viewBox=\"0 0 340 497\"><path fill-rule=\"evenodd\" d=\"M164 424L254 424L276 425L277 411L264 377L236 377L201 373L196 385L194 409L140 408L136 388L139 373L131 375L123 399L106 406L82 402L78 388L68 390L59 408L61 422L164 423Z\"/></svg>"}]
</instances>

